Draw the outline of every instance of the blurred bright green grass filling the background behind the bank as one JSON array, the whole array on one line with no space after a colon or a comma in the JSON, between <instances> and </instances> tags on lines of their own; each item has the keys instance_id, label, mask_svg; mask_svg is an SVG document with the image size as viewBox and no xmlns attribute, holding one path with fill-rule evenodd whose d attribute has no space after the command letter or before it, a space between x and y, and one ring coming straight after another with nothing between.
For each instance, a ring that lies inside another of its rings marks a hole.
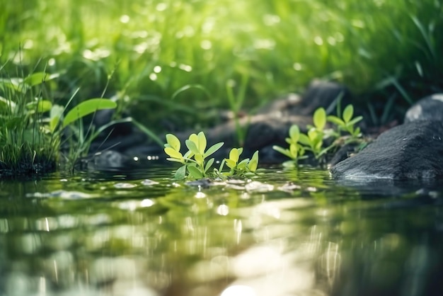
<instances>
[{"instance_id":1,"label":"blurred bright green grass filling the background behind the bank","mask_svg":"<svg viewBox=\"0 0 443 296\"><path fill-rule=\"evenodd\" d=\"M62 105L77 88L74 103L107 89L159 132L214 125L219 108L253 112L315 77L349 86L374 123L390 119L387 101L408 106L443 87L435 0L1 2L6 73L61 73Z\"/></svg>"}]
</instances>

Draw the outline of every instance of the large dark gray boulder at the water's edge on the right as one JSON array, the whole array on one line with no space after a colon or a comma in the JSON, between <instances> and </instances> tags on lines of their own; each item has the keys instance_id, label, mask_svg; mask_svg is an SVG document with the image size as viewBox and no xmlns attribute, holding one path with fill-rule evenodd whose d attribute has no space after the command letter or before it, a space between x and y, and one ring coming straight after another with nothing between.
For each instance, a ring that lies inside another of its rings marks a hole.
<instances>
[{"instance_id":1,"label":"large dark gray boulder at the water's edge on the right","mask_svg":"<svg viewBox=\"0 0 443 296\"><path fill-rule=\"evenodd\" d=\"M443 177L443 121L413 121L382 133L330 169L335 179L435 180Z\"/></svg>"}]
</instances>

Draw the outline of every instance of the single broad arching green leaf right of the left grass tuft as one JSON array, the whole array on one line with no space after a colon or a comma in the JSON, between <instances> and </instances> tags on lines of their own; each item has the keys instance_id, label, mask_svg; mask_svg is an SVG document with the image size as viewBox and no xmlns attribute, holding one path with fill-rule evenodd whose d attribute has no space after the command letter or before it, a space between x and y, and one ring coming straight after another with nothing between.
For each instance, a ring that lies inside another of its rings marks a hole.
<instances>
[{"instance_id":1,"label":"single broad arching green leaf right of the left grass tuft","mask_svg":"<svg viewBox=\"0 0 443 296\"><path fill-rule=\"evenodd\" d=\"M74 121L84 118L84 116L103 109L114 109L117 103L110 101L107 98L90 98L89 100L79 103L79 105L72 108L64 117L63 127L74 123Z\"/></svg>"}]
</instances>

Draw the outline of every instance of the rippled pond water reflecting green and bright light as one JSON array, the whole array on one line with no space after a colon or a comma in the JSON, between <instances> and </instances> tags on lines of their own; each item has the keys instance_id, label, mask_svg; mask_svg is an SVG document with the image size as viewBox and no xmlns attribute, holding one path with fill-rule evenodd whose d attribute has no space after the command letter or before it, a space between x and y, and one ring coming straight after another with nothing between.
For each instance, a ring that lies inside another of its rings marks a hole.
<instances>
[{"instance_id":1,"label":"rippled pond water reflecting green and bright light","mask_svg":"<svg viewBox=\"0 0 443 296\"><path fill-rule=\"evenodd\" d=\"M443 295L439 190L266 169L0 184L0 295Z\"/></svg>"}]
</instances>

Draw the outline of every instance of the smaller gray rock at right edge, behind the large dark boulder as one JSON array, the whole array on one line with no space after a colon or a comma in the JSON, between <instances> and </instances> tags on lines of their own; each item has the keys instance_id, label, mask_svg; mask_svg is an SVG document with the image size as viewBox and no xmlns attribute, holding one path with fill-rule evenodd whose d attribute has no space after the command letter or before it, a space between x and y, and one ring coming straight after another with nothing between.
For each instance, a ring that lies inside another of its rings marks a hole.
<instances>
[{"instance_id":1,"label":"smaller gray rock at right edge, behind the large dark boulder","mask_svg":"<svg viewBox=\"0 0 443 296\"><path fill-rule=\"evenodd\" d=\"M411 106L405 115L405 123L415 120L443 121L443 93L422 98Z\"/></svg>"}]
</instances>

